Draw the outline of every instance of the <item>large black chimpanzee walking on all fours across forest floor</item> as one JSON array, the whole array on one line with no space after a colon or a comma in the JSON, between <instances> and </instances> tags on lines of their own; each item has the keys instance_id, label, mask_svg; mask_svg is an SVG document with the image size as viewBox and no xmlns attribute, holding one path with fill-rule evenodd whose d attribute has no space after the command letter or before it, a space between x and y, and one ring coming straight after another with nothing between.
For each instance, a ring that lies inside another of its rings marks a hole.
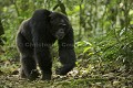
<instances>
[{"instance_id":1,"label":"large black chimpanzee walking on all fours across forest floor","mask_svg":"<svg viewBox=\"0 0 133 88\"><path fill-rule=\"evenodd\" d=\"M20 76L34 80L39 77L50 80L52 75L51 45L58 40L59 59L62 64L58 75L66 75L75 66L73 29L69 19L59 12L45 9L35 10L33 15L23 21L17 34L17 47L20 53Z\"/></svg>"}]
</instances>

